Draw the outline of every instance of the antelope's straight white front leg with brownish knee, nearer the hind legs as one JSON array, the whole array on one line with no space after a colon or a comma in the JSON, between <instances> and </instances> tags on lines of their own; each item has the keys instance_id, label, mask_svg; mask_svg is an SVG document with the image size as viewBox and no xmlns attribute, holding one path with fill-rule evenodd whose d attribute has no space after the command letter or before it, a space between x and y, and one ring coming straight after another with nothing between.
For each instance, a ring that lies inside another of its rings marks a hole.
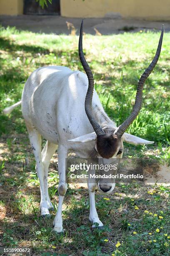
<instances>
[{"instance_id":1,"label":"antelope's straight white front leg with brownish knee, nearer the hind legs","mask_svg":"<svg viewBox=\"0 0 170 256\"><path fill-rule=\"evenodd\" d=\"M65 193L67 191L67 183L65 181L65 160L67 158L67 149L64 146L58 146L58 173L59 173L59 202L57 208L57 214L55 215L53 225L53 231L60 233L63 231L62 228L62 202L64 200Z\"/></svg>"}]
</instances>

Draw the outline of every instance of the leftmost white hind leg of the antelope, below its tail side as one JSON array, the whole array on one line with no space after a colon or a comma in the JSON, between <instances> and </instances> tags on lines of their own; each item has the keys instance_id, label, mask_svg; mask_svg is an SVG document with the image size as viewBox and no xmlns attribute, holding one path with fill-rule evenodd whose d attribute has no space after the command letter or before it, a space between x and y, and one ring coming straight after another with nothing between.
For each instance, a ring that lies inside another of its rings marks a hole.
<instances>
[{"instance_id":1,"label":"leftmost white hind leg of the antelope, below its tail side","mask_svg":"<svg viewBox=\"0 0 170 256\"><path fill-rule=\"evenodd\" d=\"M41 215L42 216L50 215L50 212L49 212L48 206L47 206L47 202L46 202L45 188L44 188L44 166L42 164L42 159L41 159L41 135L30 124L26 123L26 126L27 126L27 130L28 130L29 138L30 138L30 144L32 147L32 151L35 156L37 176L40 180L40 194L41 194L40 211L41 211Z\"/></svg>"}]
</instances>

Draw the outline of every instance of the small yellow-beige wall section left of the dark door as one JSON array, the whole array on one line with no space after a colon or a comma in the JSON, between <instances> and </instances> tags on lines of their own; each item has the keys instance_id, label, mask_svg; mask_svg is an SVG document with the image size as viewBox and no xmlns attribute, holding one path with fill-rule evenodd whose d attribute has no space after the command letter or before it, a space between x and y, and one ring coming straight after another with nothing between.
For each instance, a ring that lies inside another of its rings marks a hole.
<instances>
[{"instance_id":1,"label":"small yellow-beige wall section left of the dark door","mask_svg":"<svg viewBox=\"0 0 170 256\"><path fill-rule=\"evenodd\" d=\"M0 0L0 15L23 14L23 0Z\"/></svg>"}]
</instances>

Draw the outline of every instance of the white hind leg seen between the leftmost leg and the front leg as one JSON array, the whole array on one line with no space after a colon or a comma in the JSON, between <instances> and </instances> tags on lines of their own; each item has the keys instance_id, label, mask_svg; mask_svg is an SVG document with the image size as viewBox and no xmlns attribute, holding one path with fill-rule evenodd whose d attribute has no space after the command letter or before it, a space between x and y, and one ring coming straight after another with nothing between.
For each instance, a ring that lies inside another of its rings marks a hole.
<instances>
[{"instance_id":1,"label":"white hind leg seen between the leftmost leg and the front leg","mask_svg":"<svg viewBox=\"0 0 170 256\"><path fill-rule=\"evenodd\" d=\"M50 160L55 153L55 150L57 149L57 145L53 144L49 141L45 143L45 146L42 150L41 156L42 156L42 164L44 166L44 189L45 189L45 197L46 197L46 202L49 210L53 210L53 205L50 201L50 197L48 195L48 168L50 165Z\"/></svg>"}]
</instances>

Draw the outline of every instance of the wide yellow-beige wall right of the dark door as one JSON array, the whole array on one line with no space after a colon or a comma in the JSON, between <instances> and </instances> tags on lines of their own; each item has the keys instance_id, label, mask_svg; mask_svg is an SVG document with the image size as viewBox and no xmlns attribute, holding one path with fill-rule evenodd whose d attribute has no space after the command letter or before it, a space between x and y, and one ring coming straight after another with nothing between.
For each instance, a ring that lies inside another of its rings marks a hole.
<instances>
[{"instance_id":1,"label":"wide yellow-beige wall right of the dark door","mask_svg":"<svg viewBox=\"0 0 170 256\"><path fill-rule=\"evenodd\" d=\"M170 0L60 0L64 17L105 17L120 13L122 18L170 20Z\"/></svg>"}]
</instances>

